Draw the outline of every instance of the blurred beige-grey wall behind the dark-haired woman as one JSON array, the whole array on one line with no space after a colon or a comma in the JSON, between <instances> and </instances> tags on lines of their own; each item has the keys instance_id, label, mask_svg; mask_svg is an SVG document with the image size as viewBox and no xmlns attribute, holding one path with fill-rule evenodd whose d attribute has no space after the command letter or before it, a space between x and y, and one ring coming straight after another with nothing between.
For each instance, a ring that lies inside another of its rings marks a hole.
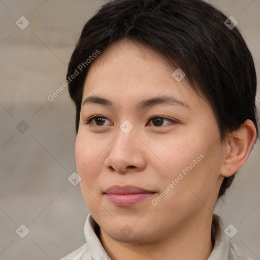
<instances>
[{"instance_id":1,"label":"blurred beige-grey wall behind the dark-haired woman","mask_svg":"<svg viewBox=\"0 0 260 260\"><path fill-rule=\"evenodd\" d=\"M52 101L48 96L66 80L81 30L105 2L0 1L1 260L59 259L85 243L88 209L72 181L75 109L67 88ZM259 78L260 1L206 2L238 21ZM258 142L215 209L253 259L260 259L259 161Z\"/></svg>"}]
</instances>

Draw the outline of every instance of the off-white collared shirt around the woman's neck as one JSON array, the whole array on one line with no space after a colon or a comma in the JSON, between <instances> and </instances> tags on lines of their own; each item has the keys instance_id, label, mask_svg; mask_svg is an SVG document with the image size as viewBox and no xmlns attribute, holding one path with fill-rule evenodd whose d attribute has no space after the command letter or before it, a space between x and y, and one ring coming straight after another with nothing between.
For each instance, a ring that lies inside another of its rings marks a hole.
<instances>
[{"instance_id":1,"label":"off-white collared shirt around the woman's neck","mask_svg":"<svg viewBox=\"0 0 260 260\"><path fill-rule=\"evenodd\" d=\"M211 234L214 239L214 247L208 260L253 260L229 239L224 233L224 229L224 220L217 214L213 214ZM96 235L98 230L99 225L89 213L84 225L87 243L60 260L111 260Z\"/></svg>"}]
</instances>

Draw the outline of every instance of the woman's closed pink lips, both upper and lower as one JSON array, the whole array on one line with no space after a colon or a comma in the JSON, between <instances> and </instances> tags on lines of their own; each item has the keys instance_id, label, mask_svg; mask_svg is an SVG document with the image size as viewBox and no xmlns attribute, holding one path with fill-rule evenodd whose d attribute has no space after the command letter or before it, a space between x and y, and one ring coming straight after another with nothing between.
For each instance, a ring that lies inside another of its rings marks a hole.
<instances>
[{"instance_id":1,"label":"woman's closed pink lips, both upper and lower","mask_svg":"<svg viewBox=\"0 0 260 260\"><path fill-rule=\"evenodd\" d=\"M117 206L131 206L147 199L155 192L131 185L113 185L104 193L107 199Z\"/></svg>"}]
</instances>

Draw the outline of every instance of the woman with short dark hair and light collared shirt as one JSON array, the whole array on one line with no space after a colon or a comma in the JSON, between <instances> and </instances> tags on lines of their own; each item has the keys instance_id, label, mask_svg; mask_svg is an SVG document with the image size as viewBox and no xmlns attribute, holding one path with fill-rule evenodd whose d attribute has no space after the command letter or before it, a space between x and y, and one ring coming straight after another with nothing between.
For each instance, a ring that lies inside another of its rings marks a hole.
<instances>
[{"instance_id":1,"label":"woman with short dark hair and light collared shirt","mask_svg":"<svg viewBox=\"0 0 260 260\"><path fill-rule=\"evenodd\" d=\"M109 2L84 26L67 83L90 214L87 243L63 260L250 259L213 214L258 137L234 18L201 0Z\"/></svg>"}]
</instances>

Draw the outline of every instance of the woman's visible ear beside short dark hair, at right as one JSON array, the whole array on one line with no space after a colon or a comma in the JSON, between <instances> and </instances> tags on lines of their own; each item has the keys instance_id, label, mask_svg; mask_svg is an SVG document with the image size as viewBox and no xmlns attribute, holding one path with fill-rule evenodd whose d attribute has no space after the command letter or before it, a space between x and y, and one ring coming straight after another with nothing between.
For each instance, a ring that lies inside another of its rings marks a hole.
<instances>
[{"instance_id":1,"label":"woman's visible ear beside short dark hair, at right","mask_svg":"<svg viewBox=\"0 0 260 260\"><path fill-rule=\"evenodd\" d=\"M225 142L225 156L220 175L230 177L246 162L256 139L254 123L247 119Z\"/></svg>"}]
</instances>

